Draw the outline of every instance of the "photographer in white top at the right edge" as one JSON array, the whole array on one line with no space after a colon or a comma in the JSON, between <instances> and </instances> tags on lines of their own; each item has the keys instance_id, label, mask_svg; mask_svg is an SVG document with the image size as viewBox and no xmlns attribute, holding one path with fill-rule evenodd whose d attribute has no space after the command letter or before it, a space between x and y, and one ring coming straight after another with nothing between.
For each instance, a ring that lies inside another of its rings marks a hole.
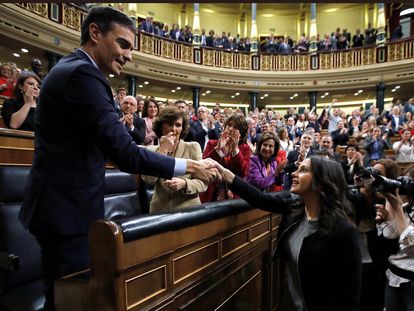
<instances>
[{"instance_id":1,"label":"photographer in white top at the right edge","mask_svg":"<svg viewBox=\"0 0 414 311\"><path fill-rule=\"evenodd\" d=\"M414 310L414 165L406 171L408 186L405 202L399 194L386 194L385 206L377 207L378 233L386 238L398 238L399 248L389 257L386 271L385 308L387 311Z\"/></svg>"}]
</instances>

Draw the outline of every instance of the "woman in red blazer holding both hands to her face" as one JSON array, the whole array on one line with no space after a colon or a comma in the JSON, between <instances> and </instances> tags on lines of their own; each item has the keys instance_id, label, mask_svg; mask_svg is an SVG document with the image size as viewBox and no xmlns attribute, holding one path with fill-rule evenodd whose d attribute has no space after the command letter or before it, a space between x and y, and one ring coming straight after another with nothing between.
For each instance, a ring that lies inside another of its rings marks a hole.
<instances>
[{"instance_id":1,"label":"woman in red blazer holding both hands to her face","mask_svg":"<svg viewBox=\"0 0 414 311\"><path fill-rule=\"evenodd\" d=\"M251 149L246 143L247 122L243 115L233 114L223 124L224 131L218 140L209 140L203 158L211 158L237 176L244 178L249 173ZM201 202L233 199L233 193L225 183L210 184L200 194Z\"/></svg>"}]
</instances>

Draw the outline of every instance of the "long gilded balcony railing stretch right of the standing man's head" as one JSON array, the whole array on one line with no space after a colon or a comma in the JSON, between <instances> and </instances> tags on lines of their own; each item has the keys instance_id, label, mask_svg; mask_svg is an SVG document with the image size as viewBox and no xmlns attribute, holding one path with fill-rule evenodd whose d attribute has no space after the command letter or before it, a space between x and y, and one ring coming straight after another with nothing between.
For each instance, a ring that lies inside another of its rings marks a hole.
<instances>
[{"instance_id":1,"label":"long gilded balcony railing stretch right of the standing man's head","mask_svg":"<svg viewBox=\"0 0 414 311\"><path fill-rule=\"evenodd\" d=\"M344 69L414 58L414 38L385 46L298 54L249 54L177 42L139 32L137 50L176 61L210 67L261 71Z\"/></svg>"}]
</instances>

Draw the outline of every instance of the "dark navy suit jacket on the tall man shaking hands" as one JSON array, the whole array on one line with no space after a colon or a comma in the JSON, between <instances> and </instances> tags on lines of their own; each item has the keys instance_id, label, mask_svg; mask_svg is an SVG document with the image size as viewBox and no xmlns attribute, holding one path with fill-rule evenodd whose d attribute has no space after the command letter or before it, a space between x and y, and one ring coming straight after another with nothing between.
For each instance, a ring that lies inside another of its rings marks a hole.
<instances>
[{"instance_id":1,"label":"dark navy suit jacket on the tall man shaking hands","mask_svg":"<svg viewBox=\"0 0 414 311\"><path fill-rule=\"evenodd\" d=\"M38 234L84 235L104 217L105 164L171 178L175 160L132 143L105 76L76 50L43 81L20 220Z\"/></svg>"}]
</instances>

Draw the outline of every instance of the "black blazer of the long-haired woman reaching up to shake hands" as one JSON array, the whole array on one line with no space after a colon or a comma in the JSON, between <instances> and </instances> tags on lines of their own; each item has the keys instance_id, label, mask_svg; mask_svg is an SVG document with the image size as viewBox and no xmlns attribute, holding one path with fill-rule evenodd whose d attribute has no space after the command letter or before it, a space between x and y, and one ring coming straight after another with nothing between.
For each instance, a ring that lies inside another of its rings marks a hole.
<instances>
[{"instance_id":1,"label":"black blazer of the long-haired woman reaching up to shake hands","mask_svg":"<svg viewBox=\"0 0 414 311\"><path fill-rule=\"evenodd\" d=\"M287 191L262 192L238 176L230 190L260 209L282 214L273 259L285 260L285 240L304 217L304 206L298 202L298 196ZM345 220L339 220L332 232L316 231L303 240L298 268L307 310L359 310L362 265L359 243L356 227Z\"/></svg>"}]
</instances>

